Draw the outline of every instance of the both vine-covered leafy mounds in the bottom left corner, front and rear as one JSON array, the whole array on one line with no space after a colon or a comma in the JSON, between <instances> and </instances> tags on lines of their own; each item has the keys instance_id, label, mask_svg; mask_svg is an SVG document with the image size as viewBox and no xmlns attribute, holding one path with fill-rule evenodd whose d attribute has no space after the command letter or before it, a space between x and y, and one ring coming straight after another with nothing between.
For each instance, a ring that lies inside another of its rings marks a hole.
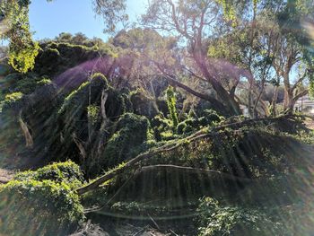
<instances>
[{"instance_id":1,"label":"both vine-covered leafy mounds in the bottom left corner, front and rear","mask_svg":"<svg viewBox=\"0 0 314 236\"><path fill-rule=\"evenodd\" d=\"M73 162L17 174L0 187L0 232L64 235L73 231L84 219L83 206L72 190L82 180L82 172Z\"/></svg>"}]
</instances>

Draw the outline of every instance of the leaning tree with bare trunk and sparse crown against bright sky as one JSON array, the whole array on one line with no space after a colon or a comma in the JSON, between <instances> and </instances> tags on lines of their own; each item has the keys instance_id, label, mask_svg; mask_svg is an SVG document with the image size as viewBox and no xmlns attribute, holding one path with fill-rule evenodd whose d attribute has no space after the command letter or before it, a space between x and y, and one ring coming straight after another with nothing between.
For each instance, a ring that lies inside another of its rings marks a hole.
<instances>
[{"instance_id":1,"label":"leaning tree with bare trunk and sparse crown against bright sky","mask_svg":"<svg viewBox=\"0 0 314 236\"><path fill-rule=\"evenodd\" d=\"M205 82L210 83L232 114L239 115L239 103L223 88L220 78L210 73L211 64L206 57L205 38L210 36L208 32L211 32L220 12L220 5L211 0L154 0L142 20L144 25L152 29L166 31L182 39L187 44L188 57L193 58Z\"/></svg>"}]
</instances>

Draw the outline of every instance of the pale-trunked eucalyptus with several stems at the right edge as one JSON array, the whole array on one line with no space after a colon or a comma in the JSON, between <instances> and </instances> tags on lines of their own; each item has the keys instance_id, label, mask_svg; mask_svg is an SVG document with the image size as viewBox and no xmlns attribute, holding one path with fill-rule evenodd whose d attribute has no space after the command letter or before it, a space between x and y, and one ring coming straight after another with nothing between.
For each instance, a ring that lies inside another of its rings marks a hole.
<instances>
[{"instance_id":1,"label":"pale-trunked eucalyptus with several stems at the right edge","mask_svg":"<svg viewBox=\"0 0 314 236\"><path fill-rule=\"evenodd\" d=\"M247 29L252 35L250 38L252 53L248 55L253 56L257 53L257 58L264 58L267 66L271 66L270 75L273 78L268 77L268 82L276 85L272 102L273 111L275 112L278 86L283 82L283 109L285 112L292 112L295 102L307 94L309 88L314 87L313 39L310 39L308 33L309 29L312 29L314 20L314 1L222 0L220 2L224 5L227 17L236 25L236 29L239 25L243 25L243 22L250 22ZM252 47L254 42L260 43L262 48ZM252 74L255 74L254 71ZM260 74L256 77L259 77L261 82L266 82ZM261 89L263 90L264 87L262 86Z\"/></svg>"}]
</instances>

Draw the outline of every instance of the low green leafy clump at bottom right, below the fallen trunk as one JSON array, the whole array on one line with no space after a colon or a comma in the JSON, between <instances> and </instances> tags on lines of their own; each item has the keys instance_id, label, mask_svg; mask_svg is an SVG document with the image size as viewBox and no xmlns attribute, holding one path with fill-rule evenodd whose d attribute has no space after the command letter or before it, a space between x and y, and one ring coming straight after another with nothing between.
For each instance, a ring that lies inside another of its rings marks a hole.
<instances>
[{"instance_id":1,"label":"low green leafy clump at bottom right, below the fallen trunk","mask_svg":"<svg viewBox=\"0 0 314 236\"><path fill-rule=\"evenodd\" d=\"M260 209L222 206L210 197L198 206L199 235L283 235L283 223Z\"/></svg>"}]
</instances>

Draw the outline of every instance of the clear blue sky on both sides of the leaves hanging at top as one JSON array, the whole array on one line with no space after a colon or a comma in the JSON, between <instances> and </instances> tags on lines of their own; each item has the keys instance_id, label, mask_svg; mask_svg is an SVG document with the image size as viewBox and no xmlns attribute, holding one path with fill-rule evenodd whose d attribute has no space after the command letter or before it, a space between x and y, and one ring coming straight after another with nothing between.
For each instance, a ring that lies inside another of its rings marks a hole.
<instances>
[{"instance_id":1,"label":"clear blue sky on both sides of the leaves hanging at top","mask_svg":"<svg viewBox=\"0 0 314 236\"><path fill-rule=\"evenodd\" d=\"M127 0L126 13L131 21L144 13L147 0ZM83 32L87 37L108 39L103 33L104 22L95 17L92 0L32 0L30 6L31 31L34 39L54 38L60 32Z\"/></svg>"}]
</instances>

